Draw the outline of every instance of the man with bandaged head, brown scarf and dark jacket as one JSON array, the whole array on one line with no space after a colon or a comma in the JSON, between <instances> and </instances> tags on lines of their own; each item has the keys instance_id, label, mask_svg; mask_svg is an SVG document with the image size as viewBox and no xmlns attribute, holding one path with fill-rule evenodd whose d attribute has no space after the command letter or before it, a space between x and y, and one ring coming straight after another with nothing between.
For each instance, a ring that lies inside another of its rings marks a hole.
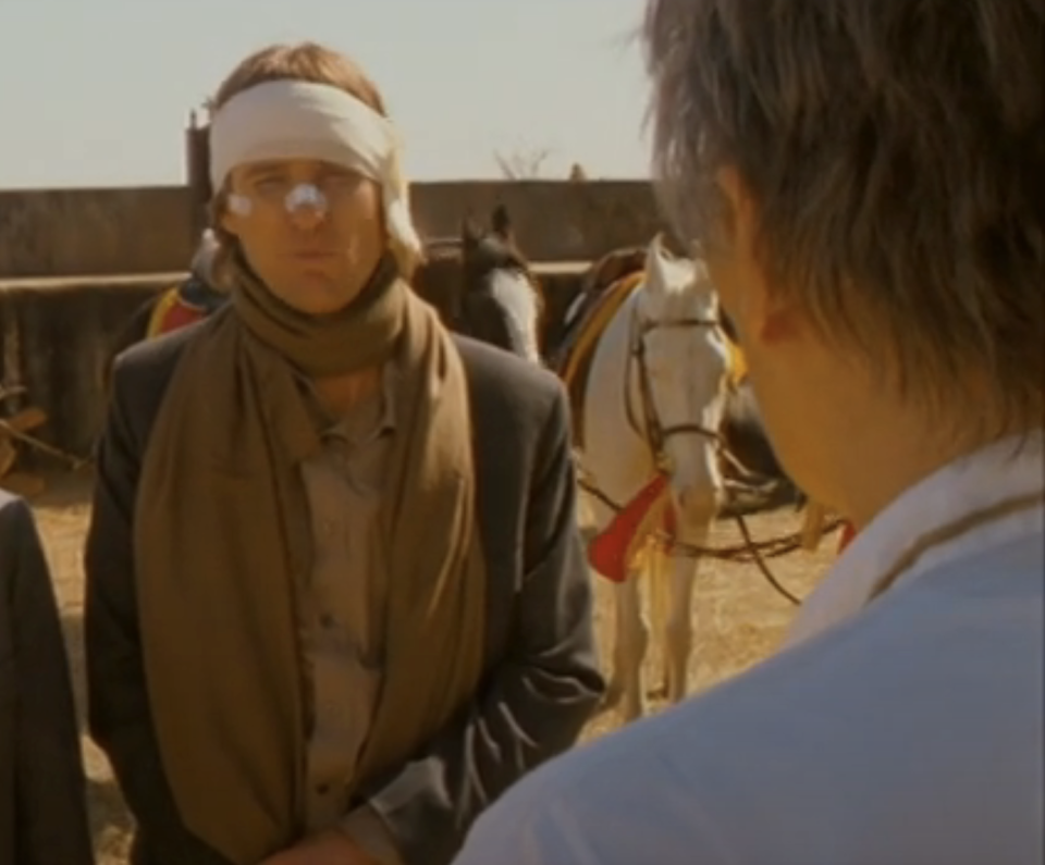
<instances>
[{"instance_id":1,"label":"man with bandaged head, brown scarf and dark jacket","mask_svg":"<svg viewBox=\"0 0 1045 865\"><path fill-rule=\"evenodd\" d=\"M231 300L114 368L91 733L136 865L444 865L603 690L564 392L411 292L353 61L270 47L213 104Z\"/></svg>"}]
</instances>

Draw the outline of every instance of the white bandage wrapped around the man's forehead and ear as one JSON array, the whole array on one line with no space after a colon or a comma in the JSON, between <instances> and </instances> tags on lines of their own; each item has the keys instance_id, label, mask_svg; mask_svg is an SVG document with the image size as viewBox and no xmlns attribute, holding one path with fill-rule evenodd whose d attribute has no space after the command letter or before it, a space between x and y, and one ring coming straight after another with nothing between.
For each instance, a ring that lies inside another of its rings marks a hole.
<instances>
[{"instance_id":1,"label":"white bandage wrapped around the man's forehead and ear","mask_svg":"<svg viewBox=\"0 0 1045 865\"><path fill-rule=\"evenodd\" d=\"M389 234L420 254L395 128L359 99L339 87L299 81L265 82L234 96L210 122L212 188L221 189L236 165L270 159L323 160L379 183ZM306 195L299 190L292 190L295 201L287 196L288 208L325 203L298 201Z\"/></svg>"}]
</instances>

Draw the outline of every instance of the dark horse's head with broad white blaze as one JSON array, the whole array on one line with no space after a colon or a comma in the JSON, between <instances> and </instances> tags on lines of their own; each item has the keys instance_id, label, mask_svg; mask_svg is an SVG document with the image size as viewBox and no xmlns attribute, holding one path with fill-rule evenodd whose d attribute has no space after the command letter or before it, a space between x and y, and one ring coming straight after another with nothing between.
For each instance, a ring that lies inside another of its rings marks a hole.
<instances>
[{"instance_id":1,"label":"dark horse's head with broad white blaze","mask_svg":"<svg viewBox=\"0 0 1045 865\"><path fill-rule=\"evenodd\" d=\"M489 228L467 217L462 223L460 250L462 306L468 328L481 334L482 322L468 319L482 314L476 310L494 305L511 332L512 345L502 347L539 363L543 297L529 262L516 245L507 208L500 205L494 209ZM470 305L470 297L482 301Z\"/></svg>"}]
</instances>

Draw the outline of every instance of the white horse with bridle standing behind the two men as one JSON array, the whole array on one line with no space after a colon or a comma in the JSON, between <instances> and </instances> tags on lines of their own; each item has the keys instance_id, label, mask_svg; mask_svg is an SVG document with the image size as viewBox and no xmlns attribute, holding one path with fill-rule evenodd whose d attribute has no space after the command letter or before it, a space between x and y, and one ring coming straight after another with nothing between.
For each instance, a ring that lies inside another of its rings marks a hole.
<instances>
[{"instance_id":1,"label":"white horse with bridle standing behind the two men","mask_svg":"<svg viewBox=\"0 0 1045 865\"><path fill-rule=\"evenodd\" d=\"M583 394L581 477L620 504L631 501L660 469L665 470L676 539L701 545L723 498L717 431L728 375L717 295L703 264L672 257L660 237L654 238L647 250L642 283L616 311L592 351ZM613 508L599 496L582 491L581 502L587 506L581 516L582 523L588 523L586 534L601 531L614 517ZM669 561L666 610L656 603L662 577L648 576L654 625L663 641L667 697L677 702L686 694L698 563L675 554ZM650 626L636 571L632 567L627 579L616 584L614 669L606 699L607 705L614 705L623 697L625 720L646 710L642 663ZM593 579L603 578L593 574Z\"/></svg>"}]
</instances>

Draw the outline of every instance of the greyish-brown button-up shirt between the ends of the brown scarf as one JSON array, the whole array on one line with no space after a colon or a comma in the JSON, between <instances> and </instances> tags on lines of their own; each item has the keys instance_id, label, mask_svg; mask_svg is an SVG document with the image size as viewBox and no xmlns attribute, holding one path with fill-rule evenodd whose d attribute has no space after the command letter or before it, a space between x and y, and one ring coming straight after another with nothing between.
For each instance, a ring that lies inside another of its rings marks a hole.
<instances>
[{"instance_id":1,"label":"greyish-brown button-up shirt between the ends of the brown scarf","mask_svg":"<svg viewBox=\"0 0 1045 865\"><path fill-rule=\"evenodd\" d=\"M302 466L312 526L312 569L300 586L310 683L307 825L342 826L381 862L396 863L369 808L348 812L346 787L373 718L381 682L388 584L378 526L394 418L395 371L336 420L310 401L322 449Z\"/></svg>"}]
</instances>

